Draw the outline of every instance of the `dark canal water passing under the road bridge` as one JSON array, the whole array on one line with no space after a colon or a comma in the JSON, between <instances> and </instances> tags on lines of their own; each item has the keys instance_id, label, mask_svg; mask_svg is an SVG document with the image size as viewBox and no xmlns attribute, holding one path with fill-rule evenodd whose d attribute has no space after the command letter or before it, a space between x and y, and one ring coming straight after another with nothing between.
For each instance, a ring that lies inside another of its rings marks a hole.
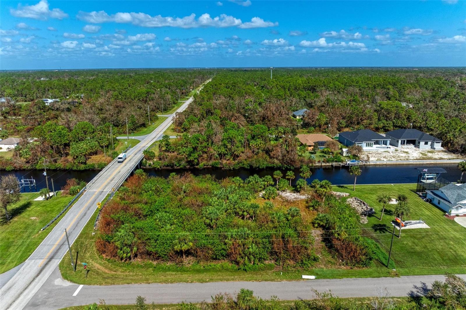
<instances>
[{"instance_id":1,"label":"dark canal water passing under the road bridge","mask_svg":"<svg viewBox=\"0 0 466 310\"><path fill-rule=\"evenodd\" d=\"M418 180L418 170L416 168L429 167L429 168L444 168L446 173L441 176L448 181L456 182L459 180L461 172L457 168L456 164L448 165L387 165L387 166L361 166L363 171L361 175L357 177L357 184L392 184L392 183L415 183ZM260 177L265 175L273 175L275 169L238 169L238 170L222 170L219 168L187 168L187 169L145 169L149 175L168 177L171 173L185 173L190 172L193 175L214 175L217 179L223 179L226 177L239 176L245 180L247 177L257 174ZM66 170L48 170L48 182L49 188L52 189L51 179L54 181L55 190L59 190L65 185L67 179L76 178L89 182L99 172L99 170L86 170L86 171L66 171ZM286 171L282 171L285 175ZM295 184L299 177L299 169L295 169L295 180L292 184ZM314 179L329 180L332 184L352 184L354 182L354 175L350 175L348 168L311 168L312 176L308 179L311 182ZM34 187L32 191L39 191L45 188L45 177L43 170L16 170L16 171L1 171L1 175L14 174L16 177L21 179L33 178L36 181L37 189ZM29 188L25 188L25 191L29 191Z\"/></svg>"}]
</instances>

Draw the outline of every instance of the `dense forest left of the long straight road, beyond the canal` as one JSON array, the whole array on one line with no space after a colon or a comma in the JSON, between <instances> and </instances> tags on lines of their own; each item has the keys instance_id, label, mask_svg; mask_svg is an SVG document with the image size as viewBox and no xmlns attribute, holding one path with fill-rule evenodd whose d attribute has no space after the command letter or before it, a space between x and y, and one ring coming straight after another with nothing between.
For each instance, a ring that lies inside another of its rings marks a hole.
<instances>
[{"instance_id":1,"label":"dense forest left of the long straight road, beyond the canal","mask_svg":"<svg viewBox=\"0 0 466 310\"><path fill-rule=\"evenodd\" d=\"M116 135L148 126L212 74L203 70L76 70L0 73L0 138L22 138L1 168L101 168ZM60 99L46 104L41 98ZM13 102L15 101L15 102ZM19 101L30 101L19 103ZM149 119L150 113L150 119ZM113 127L110 135L110 126ZM36 141L31 142L31 138Z\"/></svg>"}]
</instances>

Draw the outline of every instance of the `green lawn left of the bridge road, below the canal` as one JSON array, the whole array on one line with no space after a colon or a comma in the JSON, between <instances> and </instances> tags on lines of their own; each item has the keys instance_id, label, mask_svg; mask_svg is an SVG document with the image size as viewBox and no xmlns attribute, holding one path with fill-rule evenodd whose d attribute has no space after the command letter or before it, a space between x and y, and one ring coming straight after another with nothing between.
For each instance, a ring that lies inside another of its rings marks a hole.
<instances>
[{"instance_id":1,"label":"green lawn left of the bridge road, below the canal","mask_svg":"<svg viewBox=\"0 0 466 310\"><path fill-rule=\"evenodd\" d=\"M0 222L0 273L24 262L60 221L59 218L44 231L44 227L73 199L57 193L50 200L34 201L39 193L21 194L21 200L8 208L13 218ZM3 210L2 210L3 219Z\"/></svg>"}]
</instances>

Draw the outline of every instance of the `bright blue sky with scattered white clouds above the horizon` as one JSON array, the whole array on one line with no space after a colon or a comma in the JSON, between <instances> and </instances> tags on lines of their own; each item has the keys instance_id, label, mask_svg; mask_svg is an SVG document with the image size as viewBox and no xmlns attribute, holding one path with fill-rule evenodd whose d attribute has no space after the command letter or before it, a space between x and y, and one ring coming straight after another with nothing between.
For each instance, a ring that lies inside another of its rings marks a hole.
<instances>
[{"instance_id":1,"label":"bright blue sky with scattered white clouds above the horizon","mask_svg":"<svg viewBox=\"0 0 466 310\"><path fill-rule=\"evenodd\" d=\"M466 1L0 2L0 69L466 66Z\"/></svg>"}]
</instances>

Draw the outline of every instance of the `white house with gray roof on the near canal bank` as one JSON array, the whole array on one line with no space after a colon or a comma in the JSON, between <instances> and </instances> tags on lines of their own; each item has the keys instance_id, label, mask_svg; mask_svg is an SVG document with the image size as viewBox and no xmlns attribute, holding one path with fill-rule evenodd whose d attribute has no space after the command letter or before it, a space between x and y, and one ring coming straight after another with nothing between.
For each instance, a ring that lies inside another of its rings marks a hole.
<instances>
[{"instance_id":1,"label":"white house with gray roof on the near canal bank","mask_svg":"<svg viewBox=\"0 0 466 310\"><path fill-rule=\"evenodd\" d=\"M437 190L428 190L426 197L450 215L466 214L466 183L450 183Z\"/></svg>"}]
</instances>

